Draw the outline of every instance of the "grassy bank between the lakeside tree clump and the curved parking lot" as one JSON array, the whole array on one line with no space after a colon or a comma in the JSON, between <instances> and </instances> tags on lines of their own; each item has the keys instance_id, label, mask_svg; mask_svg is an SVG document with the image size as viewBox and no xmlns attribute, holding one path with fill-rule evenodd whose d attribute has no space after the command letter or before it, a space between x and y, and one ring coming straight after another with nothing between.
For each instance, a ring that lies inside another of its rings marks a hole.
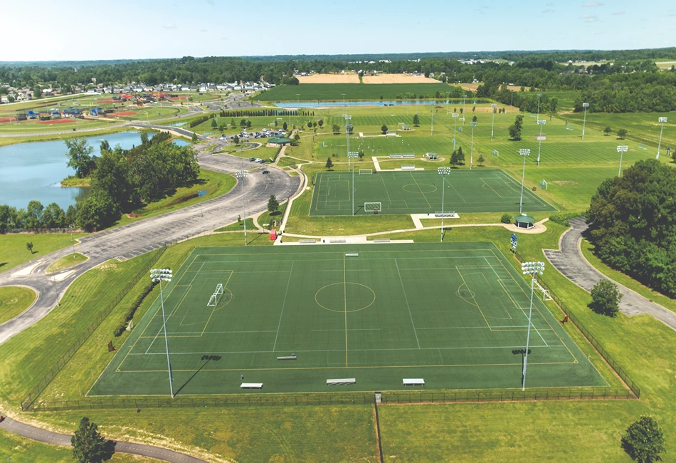
<instances>
[{"instance_id":1,"label":"grassy bank between the lakeside tree clump and the curved parking lot","mask_svg":"<svg viewBox=\"0 0 676 463\"><path fill-rule=\"evenodd\" d=\"M125 214L117 221L115 227L120 225L137 222L139 219L153 217L155 215L171 212L176 209L198 204L208 199L226 194L237 184L235 177L213 170L201 169L198 180L190 187L181 187L176 189L174 194L157 202L147 204L136 209L131 214ZM200 192L204 192L200 195Z\"/></svg>"}]
</instances>

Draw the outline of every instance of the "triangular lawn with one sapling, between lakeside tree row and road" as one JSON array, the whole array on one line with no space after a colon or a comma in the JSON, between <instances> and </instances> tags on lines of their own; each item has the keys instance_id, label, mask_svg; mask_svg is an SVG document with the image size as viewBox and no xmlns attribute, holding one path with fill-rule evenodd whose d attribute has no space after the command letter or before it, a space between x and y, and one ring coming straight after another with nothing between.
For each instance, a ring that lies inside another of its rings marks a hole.
<instances>
[{"instance_id":1,"label":"triangular lawn with one sapling, between lakeside tree row and road","mask_svg":"<svg viewBox=\"0 0 676 463\"><path fill-rule=\"evenodd\" d=\"M73 234L77 240L85 234ZM26 243L33 243L33 253L26 249ZM20 233L0 235L0 271L7 271L28 261L41 259L57 249L70 246L69 233Z\"/></svg>"}]
</instances>

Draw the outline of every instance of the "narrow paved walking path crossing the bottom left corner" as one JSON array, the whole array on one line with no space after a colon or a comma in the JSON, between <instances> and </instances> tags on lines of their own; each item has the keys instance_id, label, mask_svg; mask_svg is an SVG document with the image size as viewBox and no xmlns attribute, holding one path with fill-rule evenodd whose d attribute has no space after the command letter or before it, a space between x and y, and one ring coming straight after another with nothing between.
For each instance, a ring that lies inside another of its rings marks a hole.
<instances>
[{"instance_id":1,"label":"narrow paved walking path crossing the bottom left corner","mask_svg":"<svg viewBox=\"0 0 676 463\"><path fill-rule=\"evenodd\" d=\"M0 422L0 430L12 432L27 437L28 439L45 442L47 444L62 445L63 447L70 447L70 437L72 437L67 434L42 430L39 427L26 425L25 423L12 420L8 417L5 417L5 419ZM171 463L206 463L203 459L174 452L173 450L162 449L161 447L154 447L146 444L134 444L132 442L121 442L117 440L112 442L115 444L115 452L142 455L143 457L156 458Z\"/></svg>"}]
</instances>

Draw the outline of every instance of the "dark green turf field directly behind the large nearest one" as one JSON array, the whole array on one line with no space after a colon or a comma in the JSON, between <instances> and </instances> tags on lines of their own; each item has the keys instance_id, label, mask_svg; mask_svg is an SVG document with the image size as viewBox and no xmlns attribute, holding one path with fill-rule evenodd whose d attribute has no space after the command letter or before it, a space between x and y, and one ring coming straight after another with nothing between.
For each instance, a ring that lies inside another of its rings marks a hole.
<instances>
[{"instance_id":1,"label":"dark green turf field directly behind the large nearest one","mask_svg":"<svg viewBox=\"0 0 676 463\"><path fill-rule=\"evenodd\" d=\"M441 176L436 171L354 172L354 214L365 202L380 202L381 214L441 211ZM521 184L498 169L452 170L445 177L444 207L455 212L519 212ZM523 212L556 209L524 189ZM310 215L352 215L352 173L318 172Z\"/></svg>"}]
</instances>

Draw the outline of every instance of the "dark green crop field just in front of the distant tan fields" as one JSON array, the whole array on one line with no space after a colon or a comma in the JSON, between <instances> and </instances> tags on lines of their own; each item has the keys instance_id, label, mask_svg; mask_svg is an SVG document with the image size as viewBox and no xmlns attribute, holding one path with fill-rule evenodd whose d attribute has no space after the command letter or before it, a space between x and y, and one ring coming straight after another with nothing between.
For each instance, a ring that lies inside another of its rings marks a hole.
<instances>
[{"instance_id":1,"label":"dark green crop field just in front of the distant tan fields","mask_svg":"<svg viewBox=\"0 0 676 463\"><path fill-rule=\"evenodd\" d=\"M256 95L256 101L301 101L333 100L394 100L406 98L406 93L418 95L418 98L434 98L436 92L442 95L454 89L445 83L391 83L364 85L359 83L307 83L303 85L277 85ZM297 95L300 94L300 95ZM343 97L342 94L346 96ZM424 95L424 97L423 97Z\"/></svg>"}]
</instances>

